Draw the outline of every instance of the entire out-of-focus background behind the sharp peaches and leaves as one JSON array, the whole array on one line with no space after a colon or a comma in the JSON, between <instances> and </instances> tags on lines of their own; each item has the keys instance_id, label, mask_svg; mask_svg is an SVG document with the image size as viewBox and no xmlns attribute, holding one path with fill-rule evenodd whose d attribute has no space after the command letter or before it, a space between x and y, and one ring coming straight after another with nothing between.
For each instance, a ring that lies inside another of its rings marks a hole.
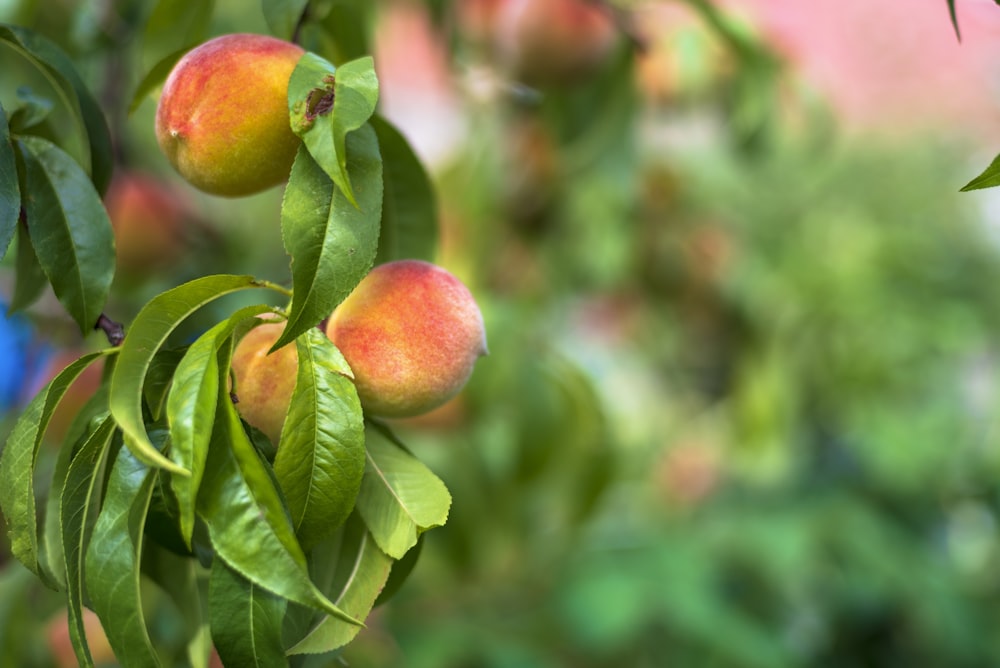
<instances>
[{"instance_id":1,"label":"entire out-of-focus background behind the sharp peaches and leaves","mask_svg":"<svg viewBox=\"0 0 1000 668\"><path fill-rule=\"evenodd\" d=\"M105 103L126 322L197 275L288 280L280 191L200 195L154 100L128 112L189 37L156 4L0 2ZM1000 665L1000 196L958 192L1000 151L1000 7L956 0L959 40L945 0L316 4L369 27L491 351L397 425L454 503L343 661ZM267 30L237 0L209 25ZM3 429L99 345L45 298L0 320ZM0 664L55 665L59 597L4 561Z\"/></svg>"}]
</instances>

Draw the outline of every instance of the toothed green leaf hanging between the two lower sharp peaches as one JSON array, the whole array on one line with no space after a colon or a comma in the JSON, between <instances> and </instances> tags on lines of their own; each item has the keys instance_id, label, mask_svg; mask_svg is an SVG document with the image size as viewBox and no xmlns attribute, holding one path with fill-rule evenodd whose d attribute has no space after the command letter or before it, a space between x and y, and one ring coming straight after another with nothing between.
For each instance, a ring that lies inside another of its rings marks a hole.
<instances>
[{"instance_id":1,"label":"toothed green leaf hanging between the two lower sharp peaches","mask_svg":"<svg viewBox=\"0 0 1000 668\"><path fill-rule=\"evenodd\" d=\"M315 327L296 339L299 371L274 474L303 545L333 533L354 508L365 470L361 402L343 355Z\"/></svg>"}]
</instances>

